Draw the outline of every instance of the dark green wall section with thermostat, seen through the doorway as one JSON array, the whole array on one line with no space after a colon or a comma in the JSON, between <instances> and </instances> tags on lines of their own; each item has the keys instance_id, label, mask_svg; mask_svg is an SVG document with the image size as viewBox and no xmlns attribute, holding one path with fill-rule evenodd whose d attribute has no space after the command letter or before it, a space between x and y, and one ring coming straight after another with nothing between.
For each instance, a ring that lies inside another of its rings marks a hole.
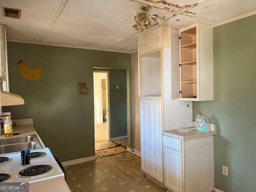
<instances>
[{"instance_id":1,"label":"dark green wall section with thermostat, seen through the doorway","mask_svg":"<svg viewBox=\"0 0 256 192\"><path fill-rule=\"evenodd\" d=\"M102 70L102 69L98 69ZM108 69L111 138L127 135L126 70ZM119 85L119 89L115 86Z\"/></svg>"}]
</instances>

